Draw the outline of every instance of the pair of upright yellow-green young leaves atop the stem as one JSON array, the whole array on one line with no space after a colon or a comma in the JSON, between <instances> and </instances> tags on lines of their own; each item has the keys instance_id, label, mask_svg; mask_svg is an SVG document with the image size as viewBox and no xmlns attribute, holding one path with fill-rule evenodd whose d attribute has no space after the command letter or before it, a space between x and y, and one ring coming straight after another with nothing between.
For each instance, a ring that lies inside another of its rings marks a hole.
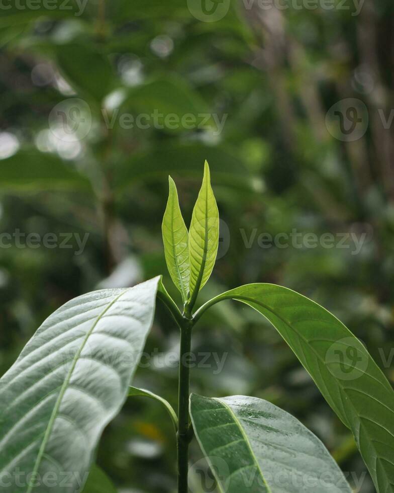
<instances>
[{"instance_id":1,"label":"pair of upright yellow-green young leaves atop the stem","mask_svg":"<svg viewBox=\"0 0 394 493\"><path fill-rule=\"evenodd\" d=\"M192 306L214 268L219 245L219 211L207 161L189 231L179 208L175 183L168 178L169 195L162 223L165 260L183 303Z\"/></svg>"}]
</instances>

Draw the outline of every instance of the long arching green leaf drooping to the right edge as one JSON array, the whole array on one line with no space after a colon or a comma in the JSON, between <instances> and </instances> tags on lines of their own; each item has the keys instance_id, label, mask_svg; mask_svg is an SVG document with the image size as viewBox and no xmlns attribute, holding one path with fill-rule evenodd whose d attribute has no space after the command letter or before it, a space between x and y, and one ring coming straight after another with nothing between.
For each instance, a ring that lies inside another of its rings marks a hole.
<instances>
[{"instance_id":1,"label":"long arching green leaf drooping to the right edge","mask_svg":"<svg viewBox=\"0 0 394 493\"><path fill-rule=\"evenodd\" d=\"M250 305L275 326L352 431L377 492L393 493L394 391L361 342L326 309L290 289L248 284L208 306L229 298Z\"/></svg>"}]
</instances>

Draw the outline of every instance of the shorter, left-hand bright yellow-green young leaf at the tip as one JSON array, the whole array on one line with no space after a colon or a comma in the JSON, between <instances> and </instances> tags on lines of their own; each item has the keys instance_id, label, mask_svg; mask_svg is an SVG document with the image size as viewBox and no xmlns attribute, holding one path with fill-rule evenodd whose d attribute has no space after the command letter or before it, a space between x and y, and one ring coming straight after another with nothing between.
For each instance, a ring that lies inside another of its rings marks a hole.
<instances>
[{"instance_id":1,"label":"shorter, left-hand bright yellow-green young leaf at the tip","mask_svg":"<svg viewBox=\"0 0 394 493\"><path fill-rule=\"evenodd\" d=\"M168 202L161 225L164 254L172 282L179 289L185 302L189 294L189 234L179 208L176 186L171 177L168 177L168 183Z\"/></svg>"}]
</instances>

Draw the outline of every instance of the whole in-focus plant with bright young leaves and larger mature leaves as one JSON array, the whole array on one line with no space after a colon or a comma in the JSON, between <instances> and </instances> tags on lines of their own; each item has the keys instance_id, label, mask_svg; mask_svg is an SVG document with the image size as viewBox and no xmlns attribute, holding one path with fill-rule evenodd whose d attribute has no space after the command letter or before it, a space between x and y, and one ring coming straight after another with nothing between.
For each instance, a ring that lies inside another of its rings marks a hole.
<instances>
[{"instance_id":1,"label":"whole in-focus plant with bright young leaves and larger mature leaves","mask_svg":"<svg viewBox=\"0 0 394 493\"><path fill-rule=\"evenodd\" d=\"M285 410L256 397L190 395L184 356L191 350L193 327L213 305L232 299L271 322L351 431L377 493L394 493L394 391L363 344L334 315L301 294L265 283L240 286L195 309L219 244L208 162L188 230L169 178L162 233L181 309L161 277L79 296L44 321L0 379L2 491L94 493L97 484L107 493L116 491L94 464L95 449L126 398L142 396L157 399L172 420L178 493L188 492L191 440L198 441L218 491L351 493L324 444ZM177 413L162 397L130 386L156 297L180 330Z\"/></svg>"}]
</instances>

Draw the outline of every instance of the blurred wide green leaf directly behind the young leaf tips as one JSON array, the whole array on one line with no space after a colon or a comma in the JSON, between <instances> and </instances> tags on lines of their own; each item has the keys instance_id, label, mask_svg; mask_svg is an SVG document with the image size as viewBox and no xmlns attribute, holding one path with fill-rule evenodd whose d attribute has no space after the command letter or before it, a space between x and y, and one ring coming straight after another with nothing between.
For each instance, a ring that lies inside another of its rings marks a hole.
<instances>
[{"instance_id":1,"label":"blurred wide green leaf directly behind the young leaf tips","mask_svg":"<svg viewBox=\"0 0 394 493\"><path fill-rule=\"evenodd\" d=\"M200 178L201 163L211 162L218 185L230 185L245 190L259 190L261 180L250 175L238 156L223 147L203 144L161 146L150 152L136 153L119 164L115 176L119 190L138 181L167 178Z\"/></svg>"}]
</instances>

